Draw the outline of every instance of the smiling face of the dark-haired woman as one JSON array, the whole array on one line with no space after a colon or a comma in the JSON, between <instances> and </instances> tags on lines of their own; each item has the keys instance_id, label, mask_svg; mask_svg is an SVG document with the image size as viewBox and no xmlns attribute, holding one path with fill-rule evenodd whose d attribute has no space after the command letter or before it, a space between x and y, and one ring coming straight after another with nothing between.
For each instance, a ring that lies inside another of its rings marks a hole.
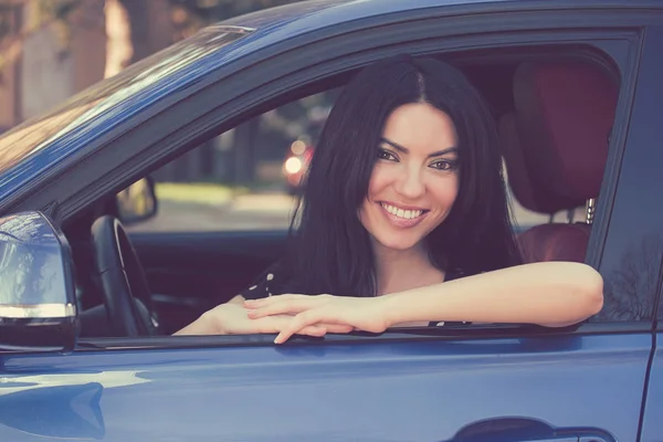
<instances>
[{"instance_id":1,"label":"smiling face of the dark-haired woman","mask_svg":"<svg viewBox=\"0 0 663 442\"><path fill-rule=\"evenodd\" d=\"M455 127L429 104L400 106L387 118L376 155L359 219L377 243L411 249L444 221L456 199Z\"/></svg>"}]
</instances>

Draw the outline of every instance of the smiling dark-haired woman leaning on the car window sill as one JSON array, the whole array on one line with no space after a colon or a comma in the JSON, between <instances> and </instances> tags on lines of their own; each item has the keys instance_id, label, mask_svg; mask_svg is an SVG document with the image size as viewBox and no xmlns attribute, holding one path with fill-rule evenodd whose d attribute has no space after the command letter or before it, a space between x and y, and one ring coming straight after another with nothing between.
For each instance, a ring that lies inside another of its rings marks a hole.
<instances>
[{"instance_id":1,"label":"smiling dark-haired woman leaning on the car window sill","mask_svg":"<svg viewBox=\"0 0 663 442\"><path fill-rule=\"evenodd\" d=\"M401 325L564 326L596 314L594 270L522 264L497 145L487 106L456 69L407 55L365 69L323 129L285 256L179 334L280 332L282 343Z\"/></svg>"}]
</instances>

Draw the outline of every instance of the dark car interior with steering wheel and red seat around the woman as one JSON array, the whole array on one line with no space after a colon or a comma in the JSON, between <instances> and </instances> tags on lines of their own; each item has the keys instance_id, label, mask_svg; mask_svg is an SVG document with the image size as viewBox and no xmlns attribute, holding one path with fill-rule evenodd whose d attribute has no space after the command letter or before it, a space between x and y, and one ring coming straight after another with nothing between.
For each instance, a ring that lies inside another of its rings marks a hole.
<instances>
[{"instance_id":1,"label":"dark car interior with steering wheel and red seat around the woman","mask_svg":"<svg viewBox=\"0 0 663 442\"><path fill-rule=\"evenodd\" d=\"M617 108L618 70L582 46L443 59L464 71L488 102L515 202L549 217L516 225L525 260L583 262ZM338 82L327 78L316 87ZM579 208L580 219L572 215ZM559 213L567 219L560 221ZM63 227L75 262L82 337L172 334L252 285L287 238L273 230L118 234L117 217L116 197L109 194ZM118 246L124 269L109 276ZM118 286L127 280L128 288ZM117 295L127 290L138 307L127 304L126 293ZM143 325L131 325L136 320Z\"/></svg>"}]
</instances>

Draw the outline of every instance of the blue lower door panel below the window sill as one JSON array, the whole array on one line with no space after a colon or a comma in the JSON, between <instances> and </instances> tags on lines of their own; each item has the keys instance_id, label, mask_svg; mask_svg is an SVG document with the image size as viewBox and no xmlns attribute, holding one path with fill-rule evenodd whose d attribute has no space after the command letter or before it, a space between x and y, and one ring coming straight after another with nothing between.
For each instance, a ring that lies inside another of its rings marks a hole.
<instances>
[{"instance_id":1,"label":"blue lower door panel below the window sill","mask_svg":"<svg viewBox=\"0 0 663 442\"><path fill-rule=\"evenodd\" d=\"M496 419L463 440L636 440L651 335L373 339L6 356L0 403L25 418L0 412L0 440L43 441L57 417L30 404L56 400L67 436L108 442L451 441Z\"/></svg>"}]
</instances>

